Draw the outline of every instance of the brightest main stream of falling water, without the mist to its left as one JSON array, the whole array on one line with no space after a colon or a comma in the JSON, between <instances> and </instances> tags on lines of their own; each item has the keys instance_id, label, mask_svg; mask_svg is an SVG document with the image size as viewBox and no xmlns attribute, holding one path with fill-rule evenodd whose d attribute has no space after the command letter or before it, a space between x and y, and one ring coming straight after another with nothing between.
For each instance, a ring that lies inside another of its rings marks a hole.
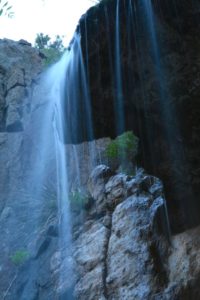
<instances>
[{"instance_id":1,"label":"brightest main stream of falling water, without the mist to its left","mask_svg":"<svg viewBox=\"0 0 200 300\"><path fill-rule=\"evenodd\" d=\"M78 159L78 149L77 146L70 146L70 144L83 139L90 140L93 137L90 97L78 34L74 36L69 52L52 68L52 72L52 78L55 78L56 74L59 74L58 82L53 84L51 93L53 94L52 100L54 102L60 247L62 257L66 261L65 272L60 274L60 282L62 283L66 282L68 278L73 278L70 193L74 192L74 190L82 192L80 178L81 162ZM70 162L66 161L69 159L69 153L66 149L65 141L69 144L67 148L71 153L71 157L73 157L73 166L70 165ZM91 171L94 164L93 146L89 147L88 164ZM72 171L75 173L75 182L71 180ZM69 187L73 187L73 190Z\"/></svg>"}]
</instances>

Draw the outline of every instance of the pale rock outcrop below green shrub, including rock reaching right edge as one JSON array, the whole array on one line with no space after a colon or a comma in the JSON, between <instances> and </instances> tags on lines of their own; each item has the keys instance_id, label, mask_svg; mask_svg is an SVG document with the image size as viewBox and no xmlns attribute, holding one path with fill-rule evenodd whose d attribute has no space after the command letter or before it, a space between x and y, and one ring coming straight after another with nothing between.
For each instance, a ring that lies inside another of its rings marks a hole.
<instances>
[{"instance_id":1,"label":"pale rock outcrop below green shrub, including rock reaching right edge","mask_svg":"<svg viewBox=\"0 0 200 300\"><path fill-rule=\"evenodd\" d=\"M200 229L170 235L157 178L100 165L89 190L93 206L74 228L75 299L199 299Z\"/></svg>"}]
</instances>

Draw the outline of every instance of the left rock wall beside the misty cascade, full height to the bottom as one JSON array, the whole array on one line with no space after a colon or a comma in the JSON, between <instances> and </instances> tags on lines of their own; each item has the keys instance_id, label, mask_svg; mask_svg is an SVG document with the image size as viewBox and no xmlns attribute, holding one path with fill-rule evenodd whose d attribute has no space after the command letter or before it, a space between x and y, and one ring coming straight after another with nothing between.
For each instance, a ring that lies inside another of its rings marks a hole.
<instances>
[{"instance_id":1,"label":"left rock wall beside the misty cascade, full height to the bottom","mask_svg":"<svg viewBox=\"0 0 200 300\"><path fill-rule=\"evenodd\" d=\"M16 275L11 256L27 245L34 217L26 209L31 201L20 185L24 174L24 129L30 117L31 88L42 71L39 51L24 40L0 40L0 298ZM26 155L29 155L27 153ZM29 222L29 231L24 227ZM32 225L30 224L32 222ZM16 279L16 278L15 278Z\"/></svg>"}]
</instances>

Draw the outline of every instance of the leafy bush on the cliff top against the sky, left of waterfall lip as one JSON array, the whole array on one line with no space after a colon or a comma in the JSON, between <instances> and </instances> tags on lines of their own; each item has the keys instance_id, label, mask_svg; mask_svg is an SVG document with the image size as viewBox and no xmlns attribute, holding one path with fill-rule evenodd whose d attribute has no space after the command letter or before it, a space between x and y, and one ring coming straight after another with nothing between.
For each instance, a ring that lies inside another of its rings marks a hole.
<instances>
[{"instance_id":1,"label":"leafy bush on the cliff top against the sky, left of waterfall lip","mask_svg":"<svg viewBox=\"0 0 200 300\"><path fill-rule=\"evenodd\" d=\"M45 66L57 62L65 50L62 38L59 35L56 36L55 40L51 41L51 38L43 33L37 34L35 47L44 55Z\"/></svg>"}]
</instances>

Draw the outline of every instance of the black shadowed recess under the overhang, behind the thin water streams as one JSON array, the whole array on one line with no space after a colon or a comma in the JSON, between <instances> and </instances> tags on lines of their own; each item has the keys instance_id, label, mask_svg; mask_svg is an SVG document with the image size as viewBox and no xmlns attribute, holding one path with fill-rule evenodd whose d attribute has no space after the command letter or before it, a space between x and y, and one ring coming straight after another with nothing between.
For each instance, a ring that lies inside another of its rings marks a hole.
<instances>
[{"instance_id":1,"label":"black shadowed recess under the overhang, behind the thin water streams","mask_svg":"<svg viewBox=\"0 0 200 300\"><path fill-rule=\"evenodd\" d=\"M92 7L77 27L88 75L95 138L116 136L116 2L102 1ZM153 1L164 100L175 116L169 122L162 111L160 79L142 1L131 3L136 12L132 18L130 1L120 1L125 130L133 130L139 136L138 163L163 180L172 232L181 232L200 223L200 1ZM84 126L84 105L81 107L79 135L74 142L90 139Z\"/></svg>"}]
</instances>

